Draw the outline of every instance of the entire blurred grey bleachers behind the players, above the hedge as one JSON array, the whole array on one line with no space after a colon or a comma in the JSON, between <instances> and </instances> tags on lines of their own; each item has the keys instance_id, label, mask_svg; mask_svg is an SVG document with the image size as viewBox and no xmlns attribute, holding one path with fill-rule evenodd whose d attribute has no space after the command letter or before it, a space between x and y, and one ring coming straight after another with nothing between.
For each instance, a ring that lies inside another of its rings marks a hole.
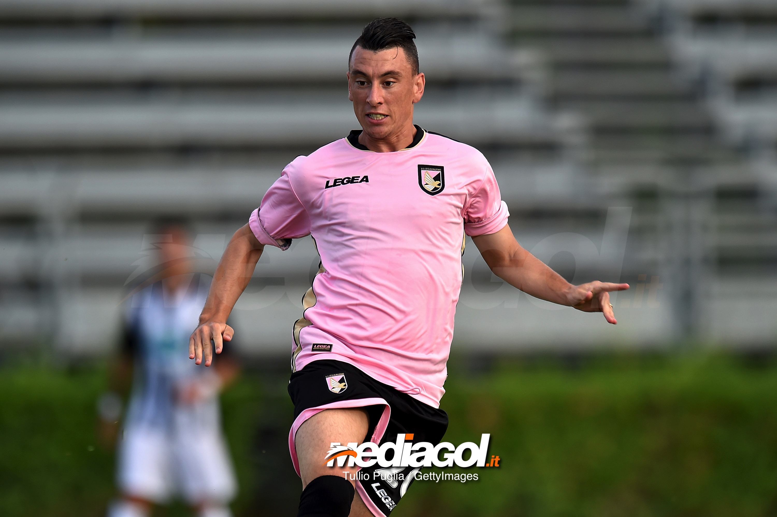
<instances>
[{"instance_id":1,"label":"entire blurred grey bleachers behind the players, above the hedge","mask_svg":"<svg viewBox=\"0 0 777 517\"><path fill-rule=\"evenodd\" d=\"M741 276L755 286L751 265L763 268L772 256L762 244L765 205L751 201L772 199L765 178L777 171L764 158L777 140L768 95L774 41L699 26L747 19L737 14L744 11L773 17L773 6L0 2L2 339L104 352L124 284L145 267L143 235L156 216L192 217L197 253L218 259L287 161L357 126L345 95L347 52L366 21L392 15L413 22L419 36L427 94L416 119L486 154L524 246L557 234L599 243L608 206L633 206L620 278L657 276L664 290L655 307L623 307L623 341L762 342L768 325L754 327L754 318L709 300ZM748 161L754 142L761 172ZM318 264L309 240L279 253L267 252L236 312L253 352L285 352L287 323ZM580 264L584 278L599 274ZM472 252L465 266L457 323L465 345L568 348L612 339L600 321L546 311L499 287ZM771 310L761 291L747 289L740 307Z\"/></svg>"}]
</instances>

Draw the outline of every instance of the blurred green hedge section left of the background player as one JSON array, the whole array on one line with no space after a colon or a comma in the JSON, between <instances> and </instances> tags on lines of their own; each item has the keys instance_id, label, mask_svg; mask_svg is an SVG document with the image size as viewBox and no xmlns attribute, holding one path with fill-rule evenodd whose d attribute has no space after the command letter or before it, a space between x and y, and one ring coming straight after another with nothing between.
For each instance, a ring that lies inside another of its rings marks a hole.
<instances>
[{"instance_id":1,"label":"blurred green hedge section left of the background player","mask_svg":"<svg viewBox=\"0 0 777 517\"><path fill-rule=\"evenodd\" d=\"M112 492L95 441L99 373L0 373L0 515L100 515ZM100 508L101 509L101 508Z\"/></svg>"}]
</instances>

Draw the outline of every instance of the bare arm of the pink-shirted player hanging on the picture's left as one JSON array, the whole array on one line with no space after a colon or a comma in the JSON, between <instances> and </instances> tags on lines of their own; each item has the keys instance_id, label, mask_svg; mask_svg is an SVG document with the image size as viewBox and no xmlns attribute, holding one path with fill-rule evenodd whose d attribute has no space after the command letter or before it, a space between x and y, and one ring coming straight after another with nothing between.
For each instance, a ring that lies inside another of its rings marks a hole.
<instances>
[{"instance_id":1,"label":"bare arm of the pink-shirted player hanging on the picture's left","mask_svg":"<svg viewBox=\"0 0 777 517\"><path fill-rule=\"evenodd\" d=\"M211 340L217 354L221 353L225 341L232 340L235 331L227 324L227 318L251 281L263 249L264 245L256 239L248 224L232 235L214 273L200 324L189 338L189 359L194 359L195 363L204 361L205 366L211 366Z\"/></svg>"}]
</instances>

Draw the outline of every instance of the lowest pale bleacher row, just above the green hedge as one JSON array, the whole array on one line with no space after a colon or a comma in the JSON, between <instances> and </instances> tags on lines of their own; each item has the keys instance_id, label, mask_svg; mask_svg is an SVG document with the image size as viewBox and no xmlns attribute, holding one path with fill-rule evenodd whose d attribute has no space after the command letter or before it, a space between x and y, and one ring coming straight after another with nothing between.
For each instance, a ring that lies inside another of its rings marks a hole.
<instances>
[{"instance_id":1,"label":"lowest pale bleacher row, just above the green hedge","mask_svg":"<svg viewBox=\"0 0 777 517\"><path fill-rule=\"evenodd\" d=\"M312 246L311 246L312 247ZM295 262L294 252L273 255L268 274L284 262ZM281 259L282 256L282 259ZM311 254L312 256L312 254ZM618 328L629 329L613 338L611 328L601 324L598 317L570 308L542 307L537 300L509 287L500 287L493 293L478 293L472 289L472 259L476 253L465 254L465 284L456 308L455 349L469 347L505 352L531 349L601 348L603 344L618 346L660 345L672 337L671 304L663 290L655 307L632 309L621 307L616 300ZM315 260L315 257L313 257ZM291 327L301 309L296 304L305 292L308 277L303 275L298 285L267 286L258 293L246 293L232 313L239 332L242 352L249 354L287 355L291 353ZM705 317L709 324L702 328L699 338L709 343L726 343L747 347L772 342L773 325L754 321L772 321L773 297L777 279L713 279L709 285L709 300ZM120 300L124 290L119 288L80 288L62 293L67 303L61 307L60 342L68 353L102 354L118 338ZM624 297L625 299L625 297ZM0 302L0 332L6 338L29 342L43 337L51 324L49 307L34 300L17 297L11 302ZM488 328L484 332L483 328ZM552 328L553 332L548 329ZM520 329L520 331L517 331Z\"/></svg>"}]
</instances>

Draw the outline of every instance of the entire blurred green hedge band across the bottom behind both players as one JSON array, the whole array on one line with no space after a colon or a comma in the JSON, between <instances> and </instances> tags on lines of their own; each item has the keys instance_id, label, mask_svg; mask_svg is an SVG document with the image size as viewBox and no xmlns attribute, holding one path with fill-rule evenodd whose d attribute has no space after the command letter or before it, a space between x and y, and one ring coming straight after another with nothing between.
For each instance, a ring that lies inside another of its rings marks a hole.
<instances>
[{"instance_id":1,"label":"entire blurred green hedge band across the bottom behind both players","mask_svg":"<svg viewBox=\"0 0 777 517\"><path fill-rule=\"evenodd\" d=\"M418 481L393 515L777 515L777 367L726 356L605 357L574 370L454 361L446 440L492 433L479 481ZM282 374L246 373L224 397L241 483L236 515L295 515ZM105 370L0 373L0 515L103 515L113 454L96 443ZM277 470L277 472L276 472ZM437 469L439 470L439 469ZM187 515L175 505L156 515Z\"/></svg>"}]
</instances>

